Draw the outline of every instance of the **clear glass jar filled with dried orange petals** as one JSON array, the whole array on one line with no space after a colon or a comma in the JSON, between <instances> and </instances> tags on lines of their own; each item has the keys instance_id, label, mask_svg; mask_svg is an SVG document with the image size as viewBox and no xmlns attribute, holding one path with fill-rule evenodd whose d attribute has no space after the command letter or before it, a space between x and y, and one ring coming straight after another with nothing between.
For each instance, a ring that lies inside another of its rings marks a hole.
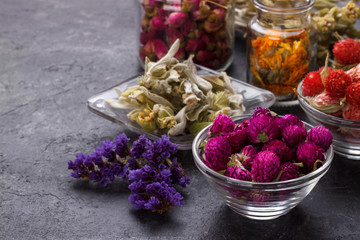
<instances>
[{"instance_id":1,"label":"clear glass jar filled with dried orange petals","mask_svg":"<svg viewBox=\"0 0 360 240\"><path fill-rule=\"evenodd\" d=\"M247 30L247 81L273 92L277 101L295 98L301 79L314 68L315 0L254 0L257 16Z\"/></svg>"}]
</instances>

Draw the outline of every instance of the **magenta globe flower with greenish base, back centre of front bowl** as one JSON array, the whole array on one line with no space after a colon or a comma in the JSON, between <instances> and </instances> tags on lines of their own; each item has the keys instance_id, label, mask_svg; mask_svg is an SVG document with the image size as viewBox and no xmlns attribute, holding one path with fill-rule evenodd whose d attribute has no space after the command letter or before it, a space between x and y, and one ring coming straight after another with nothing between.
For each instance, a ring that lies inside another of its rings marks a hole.
<instances>
[{"instance_id":1,"label":"magenta globe flower with greenish base, back centre of front bowl","mask_svg":"<svg viewBox=\"0 0 360 240\"><path fill-rule=\"evenodd\" d=\"M266 143L280 136L280 129L274 118L260 115L250 120L248 126L249 140L253 143Z\"/></svg>"}]
</instances>

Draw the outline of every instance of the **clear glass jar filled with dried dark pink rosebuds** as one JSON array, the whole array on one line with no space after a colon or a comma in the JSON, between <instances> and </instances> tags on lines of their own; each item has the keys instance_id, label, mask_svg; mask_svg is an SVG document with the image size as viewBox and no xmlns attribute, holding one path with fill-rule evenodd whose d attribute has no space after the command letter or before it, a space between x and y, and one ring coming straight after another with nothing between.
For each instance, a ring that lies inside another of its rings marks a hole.
<instances>
[{"instance_id":1,"label":"clear glass jar filled with dried dark pink rosebuds","mask_svg":"<svg viewBox=\"0 0 360 240\"><path fill-rule=\"evenodd\" d=\"M234 49L234 0L138 0L139 60L157 61L179 38L179 60L225 70Z\"/></svg>"}]
</instances>

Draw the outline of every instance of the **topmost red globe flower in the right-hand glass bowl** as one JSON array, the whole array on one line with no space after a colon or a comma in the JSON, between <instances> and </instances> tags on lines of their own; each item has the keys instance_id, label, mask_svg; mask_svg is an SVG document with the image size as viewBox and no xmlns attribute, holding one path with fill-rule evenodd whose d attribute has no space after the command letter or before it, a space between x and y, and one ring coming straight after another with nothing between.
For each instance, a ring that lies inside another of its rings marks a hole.
<instances>
[{"instance_id":1,"label":"topmost red globe flower in the right-hand glass bowl","mask_svg":"<svg viewBox=\"0 0 360 240\"><path fill-rule=\"evenodd\" d=\"M360 63L360 43L347 38L335 43L333 53L336 61L342 65Z\"/></svg>"}]
</instances>

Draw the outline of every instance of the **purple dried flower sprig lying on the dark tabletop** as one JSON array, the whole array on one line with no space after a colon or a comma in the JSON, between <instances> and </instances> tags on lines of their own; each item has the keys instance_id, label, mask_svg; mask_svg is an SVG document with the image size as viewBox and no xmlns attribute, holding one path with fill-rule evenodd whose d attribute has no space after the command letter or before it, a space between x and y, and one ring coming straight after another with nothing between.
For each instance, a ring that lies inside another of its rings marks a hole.
<instances>
[{"instance_id":1,"label":"purple dried flower sprig lying on the dark tabletop","mask_svg":"<svg viewBox=\"0 0 360 240\"><path fill-rule=\"evenodd\" d=\"M129 183L129 202L136 209L163 213L184 205L183 196L174 188L186 187L190 178L174 154L177 145L162 136L155 142L144 135L128 146L129 139L120 134L114 142L103 141L91 155L79 153L68 161L71 176L99 182L106 186L121 177Z\"/></svg>"}]
</instances>

